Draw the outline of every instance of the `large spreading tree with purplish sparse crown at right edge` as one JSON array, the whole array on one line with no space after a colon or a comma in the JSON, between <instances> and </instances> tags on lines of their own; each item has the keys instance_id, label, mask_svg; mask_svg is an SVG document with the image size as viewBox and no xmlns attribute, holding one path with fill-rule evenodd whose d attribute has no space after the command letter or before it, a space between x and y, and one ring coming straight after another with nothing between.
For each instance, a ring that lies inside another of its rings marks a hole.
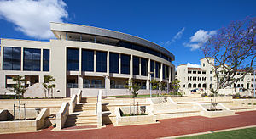
<instances>
[{"instance_id":1,"label":"large spreading tree with purplish sparse crown at right edge","mask_svg":"<svg viewBox=\"0 0 256 139\"><path fill-rule=\"evenodd\" d=\"M207 62L212 65L219 89L231 86L253 71L256 61L256 18L231 22L202 45ZM212 62L214 58L214 63ZM236 76L237 71L244 74Z\"/></svg>"}]
</instances>

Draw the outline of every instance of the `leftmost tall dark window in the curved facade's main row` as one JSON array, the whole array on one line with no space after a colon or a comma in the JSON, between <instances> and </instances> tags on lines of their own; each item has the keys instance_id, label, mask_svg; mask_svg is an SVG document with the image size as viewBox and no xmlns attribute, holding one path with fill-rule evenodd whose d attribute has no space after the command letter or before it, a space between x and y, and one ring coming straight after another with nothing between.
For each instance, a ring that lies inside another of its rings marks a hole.
<instances>
[{"instance_id":1,"label":"leftmost tall dark window in the curved facade's main row","mask_svg":"<svg viewBox=\"0 0 256 139\"><path fill-rule=\"evenodd\" d=\"M67 71L79 71L79 49L67 48Z\"/></svg>"}]
</instances>

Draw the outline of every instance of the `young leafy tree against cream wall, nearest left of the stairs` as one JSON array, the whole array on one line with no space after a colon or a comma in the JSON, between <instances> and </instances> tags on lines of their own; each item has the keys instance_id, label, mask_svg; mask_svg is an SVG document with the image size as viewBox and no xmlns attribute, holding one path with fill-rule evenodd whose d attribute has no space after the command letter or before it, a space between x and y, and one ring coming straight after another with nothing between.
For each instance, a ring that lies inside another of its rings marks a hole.
<instances>
[{"instance_id":1,"label":"young leafy tree against cream wall, nearest left of the stairs","mask_svg":"<svg viewBox=\"0 0 256 139\"><path fill-rule=\"evenodd\" d=\"M49 97L49 92L51 92L51 97L53 97L53 88L55 88L55 84L52 84L51 82L55 81L55 78L53 78L53 76L51 75L45 75L44 76L44 83L42 83L42 85L44 86L44 95L46 97L46 91Z\"/></svg>"}]
</instances>

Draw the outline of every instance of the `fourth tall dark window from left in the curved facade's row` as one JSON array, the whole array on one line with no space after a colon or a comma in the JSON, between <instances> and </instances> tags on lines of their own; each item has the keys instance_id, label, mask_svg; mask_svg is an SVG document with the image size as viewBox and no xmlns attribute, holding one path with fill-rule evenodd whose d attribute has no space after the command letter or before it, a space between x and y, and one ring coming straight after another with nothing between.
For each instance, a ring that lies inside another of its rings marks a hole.
<instances>
[{"instance_id":1,"label":"fourth tall dark window from left in the curved facade's row","mask_svg":"<svg viewBox=\"0 0 256 139\"><path fill-rule=\"evenodd\" d=\"M109 53L109 72L119 73L119 53Z\"/></svg>"}]
</instances>

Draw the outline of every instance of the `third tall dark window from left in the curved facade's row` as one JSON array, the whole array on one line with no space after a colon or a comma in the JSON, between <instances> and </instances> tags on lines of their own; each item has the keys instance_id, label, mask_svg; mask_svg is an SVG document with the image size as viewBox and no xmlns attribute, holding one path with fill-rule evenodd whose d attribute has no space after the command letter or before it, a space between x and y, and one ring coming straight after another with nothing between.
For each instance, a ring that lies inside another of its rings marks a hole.
<instances>
[{"instance_id":1,"label":"third tall dark window from left in the curved facade's row","mask_svg":"<svg viewBox=\"0 0 256 139\"><path fill-rule=\"evenodd\" d=\"M96 51L96 72L107 72L107 53Z\"/></svg>"}]
</instances>

